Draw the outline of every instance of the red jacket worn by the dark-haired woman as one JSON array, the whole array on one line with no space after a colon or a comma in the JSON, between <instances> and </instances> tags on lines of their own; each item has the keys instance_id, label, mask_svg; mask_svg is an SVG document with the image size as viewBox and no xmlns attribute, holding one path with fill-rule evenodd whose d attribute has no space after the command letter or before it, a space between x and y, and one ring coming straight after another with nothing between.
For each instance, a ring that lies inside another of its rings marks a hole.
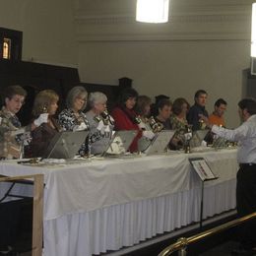
<instances>
[{"instance_id":1,"label":"red jacket worn by the dark-haired woman","mask_svg":"<svg viewBox=\"0 0 256 256\"><path fill-rule=\"evenodd\" d=\"M139 131L138 135L135 137L132 142L129 151L136 152L138 151L138 140L142 137L142 131L137 123L132 120L132 117L136 116L136 112L132 109L126 108L125 111L120 107L115 107L111 113L114 118L114 128L116 131L121 130L136 130Z\"/></svg>"}]
</instances>

